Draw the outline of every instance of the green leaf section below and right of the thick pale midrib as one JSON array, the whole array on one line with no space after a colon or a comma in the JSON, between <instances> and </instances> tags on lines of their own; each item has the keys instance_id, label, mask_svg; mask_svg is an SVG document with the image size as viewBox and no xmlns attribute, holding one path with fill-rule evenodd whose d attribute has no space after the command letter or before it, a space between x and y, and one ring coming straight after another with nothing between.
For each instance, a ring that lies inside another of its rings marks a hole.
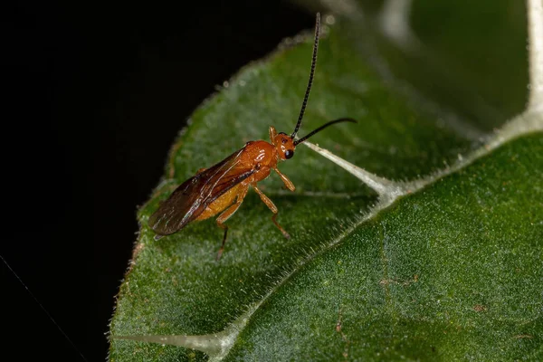
<instances>
[{"instance_id":1,"label":"green leaf section below and right of the thick pale midrib","mask_svg":"<svg viewBox=\"0 0 543 362\"><path fill-rule=\"evenodd\" d=\"M538 134L357 224L271 292L227 359L543 357L541 180Z\"/></svg>"}]
</instances>

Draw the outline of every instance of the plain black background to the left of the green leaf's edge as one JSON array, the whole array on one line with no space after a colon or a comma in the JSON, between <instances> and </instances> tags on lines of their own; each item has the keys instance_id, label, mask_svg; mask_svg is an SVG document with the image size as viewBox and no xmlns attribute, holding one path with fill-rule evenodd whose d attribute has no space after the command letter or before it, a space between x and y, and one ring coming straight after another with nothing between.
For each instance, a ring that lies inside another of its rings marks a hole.
<instances>
[{"instance_id":1,"label":"plain black background to the left of the green leaf's edge","mask_svg":"<svg viewBox=\"0 0 543 362\"><path fill-rule=\"evenodd\" d=\"M2 15L0 254L82 355L104 360L135 212L177 131L215 85L314 17L250 0L73 3ZM0 272L1 359L82 360L4 263Z\"/></svg>"}]
</instances>

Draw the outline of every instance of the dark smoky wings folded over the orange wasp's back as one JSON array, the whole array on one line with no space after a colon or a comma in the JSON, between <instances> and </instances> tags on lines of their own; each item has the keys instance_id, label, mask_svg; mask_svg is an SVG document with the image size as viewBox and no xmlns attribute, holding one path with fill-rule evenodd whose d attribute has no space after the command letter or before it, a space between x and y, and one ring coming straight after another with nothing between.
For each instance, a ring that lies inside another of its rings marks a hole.
<instances>
[{"instance_id":1,"label":"dark smoky wings folded over the orange wasp's back","mask_svg":"<svg viewBox=\"0 0 543 362\"><path fill-rule=\"evenodd\" d=\"M207 205L251 176L254 170L240 162L242 148L223 161L190 177L149 217L148 224L159 235L176 233L202 214Z\"/></svg>"}]
</instances>

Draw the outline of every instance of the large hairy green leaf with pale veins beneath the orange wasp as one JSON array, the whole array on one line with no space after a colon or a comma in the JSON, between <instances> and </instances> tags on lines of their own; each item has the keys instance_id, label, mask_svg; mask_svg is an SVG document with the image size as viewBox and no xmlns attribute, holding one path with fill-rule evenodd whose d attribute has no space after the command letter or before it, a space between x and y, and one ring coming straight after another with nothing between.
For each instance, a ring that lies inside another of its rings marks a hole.
<instances>
[{"instance_id":1,"label":"large hairy green leaf with pale veins beneath the orange wasp","mask_svg":"<svg viewBox=\"0 0 543 362\"><path fill-rule=\"evenodd\" d=\"M153 239L148 217L173 187L265 139L271 125L291 132L312 38L283 44L195 110L172 148L165 182L138 212L111 361L543 357L543 117L525 113L491 135L526 100L526 54L501 49L524 49L524 7L481 2L489 15L482 5L433 3L415 2L407 38L387 33L390 14L377 7L336 16L300 130L357 119L311 140L405 180L390 184L402 196L376 194L300 146L279 165L295 192L276 175L259 184L291 239L253 192L227 222L220 262L213 219ZM488 31L477 33L475 19ZM153 337L168 335L181 337Z\"/></svg>"}]
</instances>

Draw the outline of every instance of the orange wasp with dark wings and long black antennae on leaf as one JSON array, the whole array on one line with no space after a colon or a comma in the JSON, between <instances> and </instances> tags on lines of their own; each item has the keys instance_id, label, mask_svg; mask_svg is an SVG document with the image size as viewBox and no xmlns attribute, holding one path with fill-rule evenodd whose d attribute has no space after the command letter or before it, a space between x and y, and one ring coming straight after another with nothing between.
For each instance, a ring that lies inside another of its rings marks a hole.
<instances>
[{"instance_id":1,"label":"orange wasp with dark wings and long black antennae on leaf","mask_svg":"<svg viewBox=\"0 0 543 362\"><path fill-rule=\"evenodd\" d=\"M260 196L262 202L267 205L271 213L271 221L281 233L288 239L291 236L277 222L278 209L271 199L264 195L257 184L275 171L281 177L285 186L294 191L291 180L281 174L277 168L280 161L294 156L296 146L310 138L322 129L339 122L356 122L354 119L342 118L331 120L328 123L313 130L307 136L295 139L300 129L301 120L310 97L311 84L317 63L319 49L320 14L317 14L315 24L315 40L313 43L313 56L311 60L310 80L301 104L298 123L291 135L284 132L277 133L273 126L270 127L270 142L264 140L250 141L245 146L224 158L216 165L198 170L195 176L190 177L170 195L165 202L158 206L157 211L149 217L148 224L157 235L155 239L176 233L186 224L193 221L205 220L216 214L217 225L224 230L223 243L217 254L217 260L224 252L224 243L228 234L228 226L224 223L242 205L243 198L247 195L249 187Z\"/></svg>"}]
</instances>

